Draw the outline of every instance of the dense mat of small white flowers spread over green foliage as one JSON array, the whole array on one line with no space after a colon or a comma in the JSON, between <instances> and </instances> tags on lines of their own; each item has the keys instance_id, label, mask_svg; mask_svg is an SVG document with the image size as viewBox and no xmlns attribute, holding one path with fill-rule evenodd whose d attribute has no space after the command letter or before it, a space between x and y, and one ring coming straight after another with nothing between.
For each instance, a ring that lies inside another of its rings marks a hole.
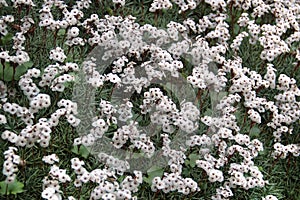
<instances>
[{"instance_id":1,"label":"dense mat of small white flowers spread over green foliage","mask_svg":"<svg viewBox=\"0 0 300 200\"><path fill-rule=\"evenodd\" d=\"M8 6L7 2L0 0L0 7ZM23 5L36 6L31 0L11 0L11 2L14 8ZM124 0L113 0L113 2L120 7L126 6ZM187 76L188 83L202 90L209 89L215 92L227 90L228 92L216 105L217 115L207 115L201 119L199 116L202 111L198 110L192 102L180 102L179 109L176 103L164 95L158 87L150 88L142 94L141 113L147 114L151 111L151 123L162 127L164 131L161 135L162 156L168 159L167 171L162 177L155 177L152 180L151 190L165 193L177 191L183 195L199 191L198 180L182 175L185 159L189 156L186 154L187 148L195 147L200 149L195 167L206 172L209 182L219 183L211 199L230 199L234 195L232 188L249 190L268 184L268 180L264 179L254 161L259 152L264 150L264 143L258 139L250 139L247 134L240 132L235 111L240 109L237 105L242 105L253 124L262 123L261 114L270 113L271 118L267 126L274 130L273 157L284 159L289 154L299 156L299 144L282 144L281 139L283 135L286 137L289 134L297 134L293 132L293 126L297 125L300 117L300 104L296 100L296 97L300 96L300 90L294 78L286 74L277 74L276 66L271 62L278 56L292 51L291 46L300 41L300 4L295 0L205 0L205 2L212 10L218 12L203 16L199 21L187 19L182 24L170 22L167 29L160 29L150 24L140 25L136 23L136 18L133 16L107 15L105 18L99 18L97 14L85 16L82 10L89 8L91 4L89 0L76 1L73 7L66 5L64 1L45 0L39 8L39 21L34 21L30 16L20 19L22 23L18 28L19 31L13 36L11 50L0 48L0 61L3 65L14 63L18 66L30 61L25 44L26 35L34 24L43 27L45 31L67 30L66 46L101 46L106 49L101 59L114 58L115 61L113 70L104 74L97 71L94 58L85 61L82 65L75 61L70 62L67 61L68 53L62 46L53 46L48 58L44 58L49 59L49 62L52 60L53 64L45 66L44 70L33 66L18 80L18 86L28 99L28 105L8 101L7 97L12 95L11 90L8 89L5 81L0 80L0 124L4 125L9 118L14 118L24 125L20 131L5 130L1 133L2 139L9 141L10 144L4 152L3 174L7 177L5 181L13 182L16 179L18 166L24 162L18 155L16 147L31 148L39 145L41 148L46 148L51 141L52 131L62 118L73 127L81 123L77 116L78 102L72 99L60 99L57 105L52 105L51 94L44 93L43 88L50 88L53 94L63 93L66 83L75 82L79 71L83 71L86 83L93 88L101 88L111 82L116 87L126 85L128 90L141 93L142 88L148 87L153 79L163 79L166 75L178 77L179 70L185 67L180 57L189 55L193 69ZM174 4L177 4L180 13L183 13L195 9L199 1L154 0L149 11L170 9ZM237 23L245 31L239 33L229 44L231 35L225 11L230 6L244 11ZM250 8L253 12L248 11ZM61 13L61 18L55 19L52 13L54 10ZM251 20L266 13L275 16L275 25L260 25ZM0 36L9 33L9 26L13 24L15 17L0 16ZM292 30L292 33L283 40L281 36L287 30ZM81 33L88 33L88 37L81 37ZM198 36L195 40L191 40L190 34ZM147 35L151 42L145 43L144 35ZM121 36L122 40L117 36ZM250 44L259 43L262 46L260 58L257 59L265 60L267 69L265 74L243 66L238 50L244 38L249 38ZM217 41L214 46L208 43L212 39ZM172 45L166 45L170 43ZM228 49L235 52L230 59L224 57ZM299 62L299 49L293 51ZM124 52L137 60L142 58L144 52L150 52L150 58L141 64L146 71L145 77L135 76L135 66L138 64L130 62ZM220 66L217 72L212 72L210 63L217 63ZM231 75L232 78L229 80L227 75ZM256 92L262 88L276 90L275 99L258 97ZM50 117L38 115L41 110L50 107L56 108L51 115L47 114ZM76 138L74 145L92 146L110 126L122 121L127 124L114 132L112 145L120 149L130 143L133 148L151 157L157 149L156 144L151 141L150 136L139 131L137 123L134 123L132 108L133 102L128 99L120 106L101 100L99 115L92 121L89 134ZM197 132L198 121L208 127L206 134ZM186 141L187 148L173 149L170 146L170 135L176 128L192 133ZM239 163L230 160L234 155L240 156ZM99 158L106 163L106 167L93 171L88 171L85 163L79 158L70 158L72 170L76 174L73 180L66 169L58 167L60 159L68 158L58 158L55 154L45 156L43 161L51 165L51 170L48 177L40 180L43 183L41 196L45 199L62 199L60 185L74 182L75 187L89 183L97 184L90 194L91 199L137 199L135 193L143 182L143 173L134 171L132 175L126 175L121 182L118 182L118 177L130 169L130 166L108 154L100 154ZM69 196L68 199L75 198ZM268 195L263 199L277 198Z\"/></svg>"}]
</instances>

